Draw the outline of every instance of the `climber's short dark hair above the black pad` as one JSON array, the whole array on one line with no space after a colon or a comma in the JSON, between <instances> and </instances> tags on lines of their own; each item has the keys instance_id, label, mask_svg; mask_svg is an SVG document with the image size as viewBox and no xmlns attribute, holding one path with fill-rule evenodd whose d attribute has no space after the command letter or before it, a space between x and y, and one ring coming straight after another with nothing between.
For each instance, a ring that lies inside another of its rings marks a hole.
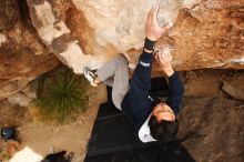
<instances>
[{"instance_id":1,"label":"climber's short dark hair above the black pad","mask_svg":"<svg viewBox=\"0 0 244 162\"><path fill-rule=\"evenodd\" d=\"M159 141L173 141L176 139L179 130L177 119L175 121L156 120L154 115L150 118L149 126L151 135Z\"/></svg>"}]
</instances>

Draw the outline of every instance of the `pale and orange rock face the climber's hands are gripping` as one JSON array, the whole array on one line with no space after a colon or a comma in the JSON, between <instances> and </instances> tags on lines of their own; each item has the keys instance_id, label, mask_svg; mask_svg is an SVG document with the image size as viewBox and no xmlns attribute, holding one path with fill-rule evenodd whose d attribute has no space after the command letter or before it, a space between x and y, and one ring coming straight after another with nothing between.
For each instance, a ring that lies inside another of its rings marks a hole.
<instances>
[{"instance_id":1,"label":"pale and orange rock face the climber's hands are gripping","mask_svg":"<svg viewBox=\"0 0 244 162\"><path fill-rule=\"evenodd\" d=\"M155 3L160 24L175 23L157 47L174 48L176 70L244 69L244 0L28 0L41 40L75 73L120 52L135 64Z\"/></svg>"}]
</instances>

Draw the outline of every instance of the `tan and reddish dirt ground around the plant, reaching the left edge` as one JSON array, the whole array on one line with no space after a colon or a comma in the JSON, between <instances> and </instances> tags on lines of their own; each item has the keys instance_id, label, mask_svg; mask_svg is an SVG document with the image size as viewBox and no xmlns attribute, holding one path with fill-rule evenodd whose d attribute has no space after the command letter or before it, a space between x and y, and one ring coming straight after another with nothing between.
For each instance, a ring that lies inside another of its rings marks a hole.
<instances>
[{"instance_id":1,"label":"tan and reddish dirt ground around the plant, reaching the left edge","mask_svg":"<svg viewBox=\"0 0 244 162\"><path fill-rule=\"evenodd\" d=\"M19 126L19 139L21 141L19 150L28 146L42 156L50 153L52 148L54 152L65 150L68 153L74 152L73 162L81 162L85 155L87 143L96 117L99 104L106 101L106 90L102 84L98 88L88 85L88 93L89 109L74 122L69 124L47 124L31 120L30 112L27 108L20 107L16 108L17 110L14 109L12 113L9 113L11 112L9 109L1 109L0 122L2 125ZM16 114L20 114L20 117L14 118ZM4 120L7 115L8 119ZM19 160L19 162L27 161Z\"/></svg>"}]
</instances>

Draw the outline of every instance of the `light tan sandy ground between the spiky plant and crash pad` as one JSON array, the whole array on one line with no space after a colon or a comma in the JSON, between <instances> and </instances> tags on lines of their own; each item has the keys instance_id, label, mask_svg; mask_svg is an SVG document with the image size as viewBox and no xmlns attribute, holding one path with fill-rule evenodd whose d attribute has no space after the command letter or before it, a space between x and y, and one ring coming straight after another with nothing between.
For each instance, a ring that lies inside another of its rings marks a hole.
<instances>
[{"instance_id":1,"label":"light tan sandy ground between the spiky plant and crash pad","mask_svg":"<svg viewBox=\"0 0 244 162\"><path fill-rule=\"evenodd\" d=\"M37 153L37 155L32 153L33 156L43 156L50 153L51 148L53 148L54 152L62 150L65 150L68 153L74 152L72 162L83 161L99 104L106 101L104 85L89 88L88 91L91 93L89 97L89 109L77 121L65 125L28 122L20 126L18 130L20 131L21 149L26 151L22 154L28 154L29 151L30 155L31 150ZM13 156L10 162L32 162L31 160L27 161L24 155L16 155L18 158Z\"/></svg>"}]
</instances>

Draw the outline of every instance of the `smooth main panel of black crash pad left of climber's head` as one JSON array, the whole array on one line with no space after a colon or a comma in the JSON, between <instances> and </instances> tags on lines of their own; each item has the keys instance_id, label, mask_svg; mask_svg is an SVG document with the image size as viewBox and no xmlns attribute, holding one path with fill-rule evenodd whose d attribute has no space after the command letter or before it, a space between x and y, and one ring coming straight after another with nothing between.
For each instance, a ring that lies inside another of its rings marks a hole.
<instances>
[{"instance_id":1,"label":"smooth main panel of black crash pad left of climber's head","mask_svg":"<svg viewBox=\"0 0 244 162\"><path fill-rule=\"evenodd\" d=\"M130 145L139 142L134 129L123 113L102 118L94 122L88 155L126 151Z\"/></svg>"}]
</instances>

